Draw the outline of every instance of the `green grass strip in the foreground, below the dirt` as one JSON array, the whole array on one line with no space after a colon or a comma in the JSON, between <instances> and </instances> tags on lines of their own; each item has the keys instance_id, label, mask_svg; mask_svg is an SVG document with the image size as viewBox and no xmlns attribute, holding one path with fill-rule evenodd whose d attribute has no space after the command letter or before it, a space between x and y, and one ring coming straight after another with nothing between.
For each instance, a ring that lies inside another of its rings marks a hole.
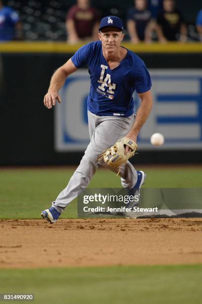
<instances>
[{"instance_id":1,"label":"green grass strip in the foreground, below the dirt","mask_svg":"<svg viewBox=\"0 0 202 304\"><path fill-rule=\"evenodd\" d=\"M200 304L202 265L0 270L0 293L37 304Z\"/></svg>"}]
</instances>

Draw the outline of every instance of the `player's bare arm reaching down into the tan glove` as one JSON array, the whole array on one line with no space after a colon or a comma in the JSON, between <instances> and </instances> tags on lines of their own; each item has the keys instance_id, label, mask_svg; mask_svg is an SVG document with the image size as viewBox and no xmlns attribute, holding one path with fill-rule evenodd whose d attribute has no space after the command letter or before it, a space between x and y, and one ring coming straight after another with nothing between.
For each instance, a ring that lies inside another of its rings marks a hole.
<instances>
[{"instance_id":1,"label":"player's bare arm reaching down into the tan glove","mask_svg":"<svg viewBox=\"0 0 202 304\"><path fill-rule=\"evenodd\" d=\"M151 108L153 105L151 90L139 93L138 94L141 99L141 104L138 108L136 117L135 117L135 123L129 133L126 135L127 138L131 139L132 141L137 141L137 135L139 131L141 130L142 126L144 125L145 121L149 117L149 114L151 112ZM128 152L129 147L126 147L126 153Z\"/></svg>"}]
</instances>

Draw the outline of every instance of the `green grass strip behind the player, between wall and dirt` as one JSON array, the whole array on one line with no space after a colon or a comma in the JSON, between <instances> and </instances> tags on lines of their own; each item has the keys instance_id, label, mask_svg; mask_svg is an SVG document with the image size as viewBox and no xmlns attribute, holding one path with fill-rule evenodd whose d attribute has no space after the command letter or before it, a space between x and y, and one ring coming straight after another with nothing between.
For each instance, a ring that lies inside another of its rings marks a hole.
<instances>
[{"instance_id":1,"label":"green grass strip behind the player, between wall and dirt","mask_svg":"<svg viewBox=\"0 0 202 304\"><path fill-rule=\"evenodd\" d=\"M147 174L145 187L201 187L201 168L141 167ZM41 210L66 187L74 170L60 168L8 169L0 171L0 219L37 219ZM98 170L91 188L119 188L120 177L109 170ZM76 200L61 218L76 218Z\"/></svg>"}]
</instances>

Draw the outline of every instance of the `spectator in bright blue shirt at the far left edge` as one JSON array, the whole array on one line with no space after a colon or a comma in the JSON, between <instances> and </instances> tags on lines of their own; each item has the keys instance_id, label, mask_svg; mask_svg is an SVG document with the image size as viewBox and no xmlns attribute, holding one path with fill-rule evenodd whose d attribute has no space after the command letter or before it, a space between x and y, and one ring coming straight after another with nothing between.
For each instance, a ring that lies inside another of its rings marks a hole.
<instances>
[{"instance_id":1,"label":"spectator in bright blue shirt at the far left edge","mask_svg":"<svg viewBox=\"0 0 202 304\"><path fill-rule=\"evenodd\" d=\"M10 41L21 35L22 26L18 14L0 0L0 41Z\"/></svg>"}]
</instances>

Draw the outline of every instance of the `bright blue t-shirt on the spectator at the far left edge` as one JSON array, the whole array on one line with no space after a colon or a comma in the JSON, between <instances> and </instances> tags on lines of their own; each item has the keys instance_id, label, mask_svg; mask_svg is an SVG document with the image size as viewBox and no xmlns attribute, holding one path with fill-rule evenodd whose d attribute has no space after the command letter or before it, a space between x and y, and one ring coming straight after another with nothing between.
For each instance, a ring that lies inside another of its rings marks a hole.
<instances>
[{"instance_id":1,"label":"bright blue t-shirt on the spectator at the far left edge","mask_svg":"<svg viewBox=\"0 0 202 304\"><path fill-rule=\"evenodd\" d=\"M18 14L10 7L0 9L0 41L9 41L15 35L15 23L19 21Z\"/></svg>"}]
</instances>

